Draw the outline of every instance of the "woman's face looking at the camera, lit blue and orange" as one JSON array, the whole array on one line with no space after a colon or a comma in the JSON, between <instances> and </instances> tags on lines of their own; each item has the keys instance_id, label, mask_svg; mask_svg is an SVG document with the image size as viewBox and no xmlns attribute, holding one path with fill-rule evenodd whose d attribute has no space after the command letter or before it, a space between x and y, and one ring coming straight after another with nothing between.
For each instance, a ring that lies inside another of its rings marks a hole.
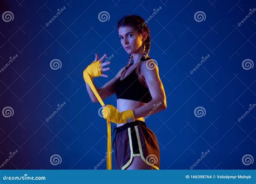
<instances>
[{"instance_id":1,"label":"woman's face looking at the camera, lit blue and orange","mask_svg":"<svg viewBox=\"0 0 256 184\"><path fill-rule=\"evenodd\" d=\"M123 26L118 29L119 39L127 54L139 52L143 45L143 37L132 26Z\"/></svg>"}]
</instances>

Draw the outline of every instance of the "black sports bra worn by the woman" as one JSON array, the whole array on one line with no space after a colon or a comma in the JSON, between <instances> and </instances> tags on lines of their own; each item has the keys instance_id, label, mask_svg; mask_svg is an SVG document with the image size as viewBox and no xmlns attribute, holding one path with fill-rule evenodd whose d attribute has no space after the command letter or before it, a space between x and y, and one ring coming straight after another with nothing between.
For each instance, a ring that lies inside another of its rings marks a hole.
<instances>
[{"instance_id":1,"label":"black sports bra worn by the woman","mask_svg":"<svg viewBox=\"0 0 256 184\"><path fill-rule=\"evenodd\" d=\"M150 58L146 58L145 60L149 59ZM118 78L114 89L117 95L117 99L122 98L127 100L139 101L143 103L148 103L152 100L149 88L144 87L142 83L139 82L138 74L136 73L136 68L134 68L132 72L129 75L127 75L123 80L120 80L120 77Z\"/></svg>"}]
</instances>

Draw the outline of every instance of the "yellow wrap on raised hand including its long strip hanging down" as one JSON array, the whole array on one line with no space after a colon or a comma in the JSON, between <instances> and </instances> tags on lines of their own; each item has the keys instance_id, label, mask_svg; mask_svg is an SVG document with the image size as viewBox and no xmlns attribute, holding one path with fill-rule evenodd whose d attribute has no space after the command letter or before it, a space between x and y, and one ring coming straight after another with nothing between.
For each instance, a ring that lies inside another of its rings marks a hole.
<instances>
[{"instance_id":1,"label":"yellow wrap on raised hand including its long strip hanging down","mask_svg":"<svg viewBox=\"0 0 256 184\"><path fill-rule=\"evenodd\" d=\"M92 77L100 75L99 74L99 71L100 71L99 70L99 62L94 61L87 68L84 70L84 73L83 73L84 80L90 86L91 90L93 91L93 93L97 97L99 103L102 106L105 106L102 98L99 96L98 91L96 90L95 86L92 83ZM111 147L111 124L110 124L110 121L107 120L107 170L112 169L112 151L111 151L111 148L112 148Z\"/></svg>"}]
</instances>

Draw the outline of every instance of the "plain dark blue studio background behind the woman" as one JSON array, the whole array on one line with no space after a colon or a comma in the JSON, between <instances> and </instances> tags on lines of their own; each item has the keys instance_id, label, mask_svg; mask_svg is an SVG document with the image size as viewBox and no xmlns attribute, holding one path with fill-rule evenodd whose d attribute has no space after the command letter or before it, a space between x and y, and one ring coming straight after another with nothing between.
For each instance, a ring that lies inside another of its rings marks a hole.
<instances>
[{"instance_id":1,"label":"plain dark blue studio background behind the woman","mask_svg":"<svg viewBox=\"0 0 256 184\"><path fill-rule=\"evenodd\" d=\"M167 97L167 109L146 119L159 141L160 169L256 168L255 1L0 2L2 169L106 169L106 121L83 70L95 53L111 56L109 78L94 80L100 87L126 65L116 25L132 14L148 20L150 56ZM199 11L203 20L194 17ZM53 59L61 67L52 69ZM116 95L104 102L116 106Z\"/></svg>"}]
</instances>

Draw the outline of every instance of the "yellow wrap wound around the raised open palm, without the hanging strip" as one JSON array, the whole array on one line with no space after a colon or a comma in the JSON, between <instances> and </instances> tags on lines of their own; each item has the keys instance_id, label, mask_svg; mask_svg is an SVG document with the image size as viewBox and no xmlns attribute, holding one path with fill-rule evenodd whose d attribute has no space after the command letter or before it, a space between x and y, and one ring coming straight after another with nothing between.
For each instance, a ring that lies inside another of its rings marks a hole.
<instances>
[{"instance_id":1,"label":"yellow wrap wound around the raised open palm, without the hanging strip","mask_svg":"<svg viewBox=\"0 0 256 184\"><path fill-rule=\"evenodd\" d=\"M86 83L88 83L88 79L85 77L85 74L87 73L89 75L89 78L91 81L93 81L93 77L98 77L102 75L102 67L100 66L100 61L93 61L87 68L84 70L84 80Z\"/></svg>"}]
</instances>

